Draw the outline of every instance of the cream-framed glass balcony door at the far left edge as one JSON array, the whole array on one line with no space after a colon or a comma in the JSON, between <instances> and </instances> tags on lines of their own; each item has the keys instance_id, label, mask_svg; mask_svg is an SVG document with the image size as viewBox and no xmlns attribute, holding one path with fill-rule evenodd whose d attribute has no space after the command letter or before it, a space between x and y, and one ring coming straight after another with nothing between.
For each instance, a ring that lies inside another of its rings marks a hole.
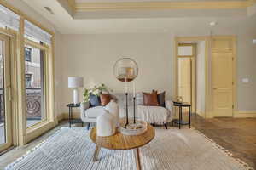
<instances>
[{"instance_id":1,"label":"cream-framed glass balcony door at the far left edge","mask_svg":"<svg viewBox=\"0 0 256 170\"><path fill-rule=\"evenodd\" d=\"M10 107L9 37L0 34L0 151L13 144Z\"/></svg>"}]
</instances>

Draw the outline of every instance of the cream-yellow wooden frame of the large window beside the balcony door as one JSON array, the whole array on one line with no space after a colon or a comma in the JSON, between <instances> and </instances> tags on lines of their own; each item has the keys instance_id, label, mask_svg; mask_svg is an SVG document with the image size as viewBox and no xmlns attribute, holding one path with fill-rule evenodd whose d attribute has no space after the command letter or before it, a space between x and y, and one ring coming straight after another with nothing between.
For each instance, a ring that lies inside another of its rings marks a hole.
<instances>
[{"instance_id":1,"label":"cream-yellow wooden frame of the large window beside the balcony door","mask_svg":"<svg viewBox=\"0 0 256 170\"><path fill-rule=\"evenodd\" d=\"M28 15L21 12L19 9L14 8L13 6L9 5L9 3L0 1L0 4L3 5L6 8L9 8L15 14L20 15L20 29L19 31L12 30L11 28L2 28L0 27L0 33L3 33L5 35L8 35L11 38L11 54L12 59L14 59L14 62L12 62L12 116L13 116L13 131L14 131L14 145L23 145L31 141L32 139L37 138L42 133L47 132L49 129L55 127L57 122L57 117L54 114L55 111L55 82L54 82L54 60L55 60L55 33L54 31L50 31L43 25L41 25L38 21L33 20ZM26 40L24 37L24 22L25 20L30 21L35 26L38 26L42 30L48 32L51 37L51 44L38 44L37 42L32 42L29 40ZM25 43L32 42L37 47L44 48L44 50L47 52L46 55L46 61L44 63L45 67L45 74L44 76L46 79L45 82L45 105L47 107L45 108L45 114L47 114L47 119L44 122L39 122L32 127L26 127L26 100L25 100Z\"/></svg>"}]
</instances>

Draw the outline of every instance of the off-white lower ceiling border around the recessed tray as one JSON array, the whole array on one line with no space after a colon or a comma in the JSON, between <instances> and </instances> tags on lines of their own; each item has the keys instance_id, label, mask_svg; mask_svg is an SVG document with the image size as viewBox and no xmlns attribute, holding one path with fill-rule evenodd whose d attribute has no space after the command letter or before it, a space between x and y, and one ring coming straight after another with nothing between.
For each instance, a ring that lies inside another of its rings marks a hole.
<instances>
[{"instance_id":1,"label":"off-white lower ceiling border around the recessed tray","mask_svg":"<svg viewBox=\"0 0 256 170\"><path fill-rule=\"evenodd\" d=\"M256 29L256 16L255 14L248 16L247 8L103 9L73 13L71 10L68 11L68 4L64 2L66 0L23 1L48 19L62 34L168 31L179 34L188 30L209 34L212 29L213 31L219 29L251 31ZM78 0L78 2L92 1L99 0ZM101 0L101 2L103 1ZM49 14L44 7L51 8L55 14ZM218 26L209 26L212 21L217 21Z\"/></svg>"}]
</instances>

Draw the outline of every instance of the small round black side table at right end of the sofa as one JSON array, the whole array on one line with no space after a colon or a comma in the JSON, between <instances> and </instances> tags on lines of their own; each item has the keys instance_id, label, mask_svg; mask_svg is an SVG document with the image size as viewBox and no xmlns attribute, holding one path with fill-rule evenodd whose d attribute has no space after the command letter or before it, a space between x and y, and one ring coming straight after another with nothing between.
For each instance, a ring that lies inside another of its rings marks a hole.
<instances>
[{"instance_id":1,"label":"small round black side table at right end of the sofa","mask_svg":"<svg viewBox=\"0 0 256 170\"><path fill-rule=\"evenodd\" d=\"M180 129L181 125L188 125L189 124L189 128L191 127L191 105L189 103L177 103L177 102L173 102L173 106L178 107L178 119L175 119L172 121L172 125L173 123L177 123L178 124L178 128ZM189 107L189 122L183 122L183 107Z\"/></svg>"}]
</instances>

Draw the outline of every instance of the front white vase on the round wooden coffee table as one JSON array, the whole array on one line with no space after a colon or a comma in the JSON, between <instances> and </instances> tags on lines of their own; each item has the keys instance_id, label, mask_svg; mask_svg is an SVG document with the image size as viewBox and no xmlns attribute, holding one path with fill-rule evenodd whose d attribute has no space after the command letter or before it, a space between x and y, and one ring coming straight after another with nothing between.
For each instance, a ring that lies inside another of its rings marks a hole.
<instances>
[{"instance_id":1,"label":"front white vase on the round wooden coffee table","mask_svg":"<svg viewBox=\"0 0 256 170\"><path fill-rule=\"evenodd\" d=\"M115 117L109 111L104 110L104 113L97 117L96 122L97 136L112 136L115 133Z\"/></svg>"}]
</instances>

